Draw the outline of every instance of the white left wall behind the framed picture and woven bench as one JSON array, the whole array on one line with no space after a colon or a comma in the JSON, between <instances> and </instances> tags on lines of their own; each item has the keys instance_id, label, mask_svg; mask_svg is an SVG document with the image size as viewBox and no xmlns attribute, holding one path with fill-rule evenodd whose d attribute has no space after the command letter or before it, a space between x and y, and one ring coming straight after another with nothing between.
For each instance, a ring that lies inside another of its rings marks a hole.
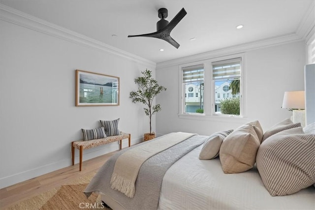
<instances>
[{"instance_id":1,"label":"white left wall behind the framed picture and woven bench","mask_svg":"<svg viewBox=\"0 0 315 210\"><path fill-rule=\"evenodd\" d=\"M120 118L119 128L131 133L132 144L140 142L149 119L129 92L136 90L134 78L146 68L155 75L155 64L1 20L0 187L71 165L71 142L83 139L81 128L99 127L101 119ZM75 69L120 77L120 106L76 107ZM85 150L83 160L118 149L115 142Z\"/></svg>"}]
</instances>

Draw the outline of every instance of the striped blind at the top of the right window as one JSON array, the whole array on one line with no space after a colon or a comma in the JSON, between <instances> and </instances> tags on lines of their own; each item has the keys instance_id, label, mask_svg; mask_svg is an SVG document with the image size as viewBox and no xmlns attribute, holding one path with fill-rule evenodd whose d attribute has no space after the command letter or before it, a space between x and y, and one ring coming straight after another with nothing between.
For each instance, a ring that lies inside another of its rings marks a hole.
<instances>
[{"instance_id":1,"label":"striped blind at the top of the right window","mask_svg":"<svg viewBox=\"0 0 315 210\"><path fill-rule=\"evenodd\" d=\"M212 63L212 78L237 79L241 77L241 58L221 60Z\"/></svg>"}]
</instances>

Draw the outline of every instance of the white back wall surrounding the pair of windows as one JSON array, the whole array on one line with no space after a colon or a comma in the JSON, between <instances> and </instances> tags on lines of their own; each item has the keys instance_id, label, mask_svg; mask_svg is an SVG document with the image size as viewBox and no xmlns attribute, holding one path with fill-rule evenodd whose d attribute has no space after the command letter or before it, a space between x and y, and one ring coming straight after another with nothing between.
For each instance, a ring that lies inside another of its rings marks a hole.
<instances>
[{"instance_id":1,"label":"white back wall surrounding the pair of windows","mask_svg":"<svg viewBox=\"0 0 315 210\"><path fill-rule=\"evenodd\" d=\"M185 62L190 60L197 61L196 56L186 58ZM170 63L176 63L176 60ZM157 80L167 91L157 97L157 103L162 107L157 115L157 132L159 135L174 131L210 135L216 131L236 128L251 120L259 120L266 130L292 115L281 108L284 91L304 90L304 65L303 41L245 52L246 118L195 120L178 116L179 66L158 63Z\"/></svg>"}]
</instances>

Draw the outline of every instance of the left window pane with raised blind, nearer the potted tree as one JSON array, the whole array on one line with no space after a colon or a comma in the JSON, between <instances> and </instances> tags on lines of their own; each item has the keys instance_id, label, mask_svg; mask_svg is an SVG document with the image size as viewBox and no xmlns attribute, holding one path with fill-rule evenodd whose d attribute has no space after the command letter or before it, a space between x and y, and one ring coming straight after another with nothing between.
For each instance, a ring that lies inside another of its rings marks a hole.
<instances>
[{"instance_id":1,"label":"left window pane with raised blind, nearer the potted tree","mask_svg":"<svg viewBox=\"0 0 315 210\"><path fill-rule=\"evenodd\" d=\"M198 109L203 109L203 64L183 67L182 81L185 95L188 93L188 97L184 99L183 113L197 113ZM196 97L193 97L193 91L200 92L200 97L197 93Z\"/></svg>"}]
</instances>

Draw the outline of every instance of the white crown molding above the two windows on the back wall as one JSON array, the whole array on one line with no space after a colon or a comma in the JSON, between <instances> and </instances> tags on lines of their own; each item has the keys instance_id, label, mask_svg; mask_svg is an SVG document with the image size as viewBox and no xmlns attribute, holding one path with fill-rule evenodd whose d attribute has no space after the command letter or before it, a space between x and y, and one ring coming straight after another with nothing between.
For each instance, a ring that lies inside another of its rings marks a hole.
<instances>
[{"instance_id":1,"label":"white crown molding above the two windows on the back wall","mask_svg":"<svg viewBox=\"0 0 315 210\"><path fill-rule=\"evenodd\" d=\"M296 33L289 33L285 35L280 35L276 37L271 37L267 39L261 39L258 41L253 42L247 42L239 45L234 45L226 48L221 48L218 50L208 51L205 53L195 54L188 57L183 57L179 59L174 60L168 60L165 62L159 62L157 63L156 69L179 65L183 63L189 63L189 62L195 62L195 61L201 61L201 60L208 60L212 58L218 58L226 55L233 55L238 53L244 53L251 50L256 50L260 48L266 48L281 44L286 44L290 42L296 42L296 41L302 41L303 39L297 35Z\"/></svg>"}]
</instances>

